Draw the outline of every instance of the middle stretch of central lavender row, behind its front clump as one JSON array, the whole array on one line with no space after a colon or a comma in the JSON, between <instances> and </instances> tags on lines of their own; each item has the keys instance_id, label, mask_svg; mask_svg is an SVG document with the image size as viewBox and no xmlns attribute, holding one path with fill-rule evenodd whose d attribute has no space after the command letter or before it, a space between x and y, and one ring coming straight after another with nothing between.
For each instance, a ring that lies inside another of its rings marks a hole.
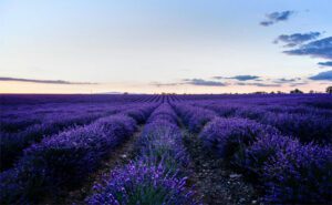
<instances>
[{"instance_id":1,"label":"middle stretch of central lavender row, behind its front clump","mask_svg":"<svg viewBox=\"0 0 332 205\"><path fill-rule=\"evenodd\" d=\"M147 163L163 163L169 171L178 172L188 164L183 146L183 135L177 125L177 116L168 104L156 109L145 125L141 141L141 160Z\"/></svg>"}]
</instances>

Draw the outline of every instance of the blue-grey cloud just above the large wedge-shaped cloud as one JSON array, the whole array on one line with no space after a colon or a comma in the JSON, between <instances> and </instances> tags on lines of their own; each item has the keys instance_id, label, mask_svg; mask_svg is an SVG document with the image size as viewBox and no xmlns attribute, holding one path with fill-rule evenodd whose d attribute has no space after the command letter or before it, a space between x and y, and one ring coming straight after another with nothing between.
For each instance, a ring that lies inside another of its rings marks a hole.
<instances>
[{"instance_id":1,"label":"blue-grey cloud just above the large wedge-shaped cloud","mask_svg":"<svg viewBox=\"0 0 332 205\"><path fill-rule=\"evenodd\" d=\"M309 33L293 33L293 34L281 34L273 42L274 43L286 43L286 47L297 47L307 41L315 40L321 35L320 32L309 32Z\"/></svg>"}]
</instances>

